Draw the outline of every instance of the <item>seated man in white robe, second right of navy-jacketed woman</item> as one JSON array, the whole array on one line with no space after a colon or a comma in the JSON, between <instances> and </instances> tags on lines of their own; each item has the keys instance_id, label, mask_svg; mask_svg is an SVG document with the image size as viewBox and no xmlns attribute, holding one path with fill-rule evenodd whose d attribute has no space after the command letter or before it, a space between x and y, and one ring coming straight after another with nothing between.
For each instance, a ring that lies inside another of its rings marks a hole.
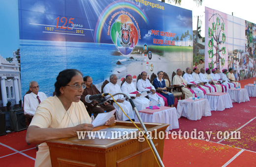
<instances>
[{"instance_id":1,"label":"seated man in white robe, second right of navy-jacketed woman","mask_svg":"<svg viewBox=\"0 0 256 167\"><path fill-rule=\"evenodd\" d=\"M196 96L199 92L199 97L204 98L204 94L206 94L206 91L200 87L200 83L194 82L194 79L190 73L191 73L190 67L186 68L186 73L183 75L183 78L187 81L188 85L192 85L191 89L195 92Z\"/></svg>"}]
</instances>

